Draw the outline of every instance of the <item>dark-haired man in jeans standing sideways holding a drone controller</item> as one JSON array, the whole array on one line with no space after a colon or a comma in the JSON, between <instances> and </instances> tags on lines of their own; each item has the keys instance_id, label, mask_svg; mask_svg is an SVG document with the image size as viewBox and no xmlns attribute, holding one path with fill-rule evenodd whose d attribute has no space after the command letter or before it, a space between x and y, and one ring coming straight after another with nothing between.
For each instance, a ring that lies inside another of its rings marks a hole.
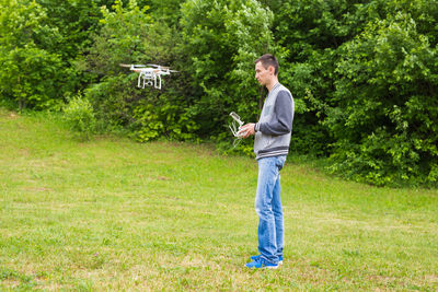
<instances>
[{"instance_id":1,"label":"dark-haired man in jeans standing sideways holding a drone controller","mask_svg":"<svg viewBox=\"0 0 438 292\"><path fill-rule=\"evenodd\" d=\"M284 219L280 200L280 170L289 152L293 121L293 97L278 82L278 61L263 55L255 61L255 78L268 95L256 124L242 126L243 138L255 136L254 152L258 163L255 211L258 221L258 252L247 268L276 269L283 264Z\"/></svg>"}]
</instances>

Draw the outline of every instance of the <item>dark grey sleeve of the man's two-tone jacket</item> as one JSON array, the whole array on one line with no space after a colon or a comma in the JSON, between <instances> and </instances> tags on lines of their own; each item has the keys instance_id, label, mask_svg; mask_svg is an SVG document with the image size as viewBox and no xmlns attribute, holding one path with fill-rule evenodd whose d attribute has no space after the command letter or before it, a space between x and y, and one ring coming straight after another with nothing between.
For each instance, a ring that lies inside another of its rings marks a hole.
<instances>
[{"instance_id":1,"label":"dark grey sleeve of the man's two-tone jacket","mask_svg":"<svg viewBox=\"0 0 438 292\"><path fill-rule=\"evenodd\" d=\"M292 130L293 107L292 98L287 91L280 91L275 101L276 119L268 122L257 122L255 129L266 135L280 136Z\"/></svg>"}]
</instances>

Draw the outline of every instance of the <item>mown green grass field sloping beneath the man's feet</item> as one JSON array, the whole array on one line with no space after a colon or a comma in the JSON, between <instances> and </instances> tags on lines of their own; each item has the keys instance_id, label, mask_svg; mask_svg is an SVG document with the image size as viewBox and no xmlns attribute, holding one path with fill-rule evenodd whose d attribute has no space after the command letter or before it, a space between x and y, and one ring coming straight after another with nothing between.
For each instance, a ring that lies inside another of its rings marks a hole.
<instances>
[{"instance_id":1,"label":"mown green grass field sloping beneath the man's feet","mask_svg":"<svg viewBox=\"0 0 438 292\"><path fill-rule=\"evenodd\" d=\"M285 262L257 250L257 165L207 145L79 142L0 109L0 290L437 291L438 191L377 188L290 160Z\"/></svg>"}]
</instances>

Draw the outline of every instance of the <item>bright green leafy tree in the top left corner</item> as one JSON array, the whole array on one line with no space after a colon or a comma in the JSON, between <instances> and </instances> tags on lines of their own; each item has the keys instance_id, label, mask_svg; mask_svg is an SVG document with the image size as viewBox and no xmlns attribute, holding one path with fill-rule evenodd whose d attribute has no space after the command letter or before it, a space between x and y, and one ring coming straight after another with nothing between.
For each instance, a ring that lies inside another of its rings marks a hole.
<instances>
[{"instance_id":1,"label":"bright green leafy tree in the top left corner","mask_svg":"<svg viewBox=\"0 0 438 292\"><path fill-rule=\"evenodd\" d=\"M68 69L55 52L60 39L57 28L46 24L46 12L35 1L2 0L1 7L1 97L20 109L59 108Z\"/></svg>"}]
</instances>

